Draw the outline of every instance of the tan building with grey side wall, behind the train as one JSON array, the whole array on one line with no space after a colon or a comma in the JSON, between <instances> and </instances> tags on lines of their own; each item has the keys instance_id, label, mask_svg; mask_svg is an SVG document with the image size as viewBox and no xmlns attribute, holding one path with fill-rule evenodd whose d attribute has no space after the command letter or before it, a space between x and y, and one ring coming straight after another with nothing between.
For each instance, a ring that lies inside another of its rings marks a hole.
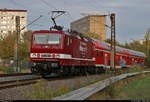
<instances>
[{"instance_id":1,"label":"tan building with grey side wall, behind the train","mask_svg":"<svg viewBox=\"0 0 150 102\"><path fill-rule=\"evenodd\" d=\"M106 15L88 15L71 23L70 28L79 33L96 33L106 40Z\"/></svg>"}]
</instances>

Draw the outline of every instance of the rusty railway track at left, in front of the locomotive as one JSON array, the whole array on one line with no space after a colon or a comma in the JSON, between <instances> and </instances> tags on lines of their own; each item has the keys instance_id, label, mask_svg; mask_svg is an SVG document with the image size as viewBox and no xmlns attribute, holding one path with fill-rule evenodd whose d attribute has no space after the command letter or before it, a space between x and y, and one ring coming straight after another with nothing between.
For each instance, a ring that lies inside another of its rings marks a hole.
<instances>
[{"instance_id":1,"label":"rusty railway track at left, in front of the locomotive","mask_svg":"<svg viewBox=\"0 0 150 102\"><path fill-rule=\"evenodd\" d=\"M0 89L33 84L41 78L41 76L32 75L31 73L1 74Z\"/></svg>"}]
</instances>

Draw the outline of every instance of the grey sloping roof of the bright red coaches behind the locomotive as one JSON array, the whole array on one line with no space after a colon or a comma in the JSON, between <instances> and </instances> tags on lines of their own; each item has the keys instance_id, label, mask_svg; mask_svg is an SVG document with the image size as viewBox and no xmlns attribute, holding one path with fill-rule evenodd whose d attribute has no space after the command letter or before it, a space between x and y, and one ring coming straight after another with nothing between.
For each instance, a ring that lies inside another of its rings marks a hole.
<instances>
[{"instance_id":1,"label":"grey sloping roof of the bright red coaches behind the locomotive","mask_svg":"<svg viewBox=\"0 0 150 102\"><path fill-rule=\"evenodd\" d=\"M106 50L110 50L111 45L109 43L106 43L97 39L93 39L93 40L99 44L98 45L99 47L102 47ZM122 48L119 46L116 46L116 52L134 55L134 56L146 57L146 55L143 52L135 51L135 50L127 49L127 48Z\"/></svg>"}]
</instances>

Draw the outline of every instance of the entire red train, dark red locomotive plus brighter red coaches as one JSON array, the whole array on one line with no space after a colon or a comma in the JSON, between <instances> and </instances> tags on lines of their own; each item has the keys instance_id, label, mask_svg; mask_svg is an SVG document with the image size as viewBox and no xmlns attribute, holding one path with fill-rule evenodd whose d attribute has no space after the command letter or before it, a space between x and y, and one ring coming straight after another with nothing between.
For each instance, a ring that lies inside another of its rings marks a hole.
<instances>
[{"instance_id":1,"label":"entire red train, dark red locomotive plus brighter red coaches","mask_svg":"<svg viewBox=\"0 0 150 102\"><path fill-rule=\"evenodd\" d=\"M31 72L77 75L99 73L110 68L110 44L69 31L39 30L32 33ZM116 46L116 69L134 64L147 66L143 52Z\"/></svg>"}]
</instances>

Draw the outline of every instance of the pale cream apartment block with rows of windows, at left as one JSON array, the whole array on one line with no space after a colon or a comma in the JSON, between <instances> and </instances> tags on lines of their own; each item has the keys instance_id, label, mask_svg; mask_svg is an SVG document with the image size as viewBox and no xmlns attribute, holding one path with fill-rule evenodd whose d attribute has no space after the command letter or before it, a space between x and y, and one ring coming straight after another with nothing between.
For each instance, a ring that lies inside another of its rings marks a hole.
<instances>
[{"instance_id":1,"label":"pale cream apartment block with rows of windows, at left","mask_svg":"<svg viewBox=\"0 0 150 102\"><path fill-rule=\"evenodd\" d=\"M16 31L16 16L20 16L20 29L27 25L27 10L0 9L0 36L5 37L9 32ZM27 28L20 34L25 31Z\"/></svg>"}]
</instances>

